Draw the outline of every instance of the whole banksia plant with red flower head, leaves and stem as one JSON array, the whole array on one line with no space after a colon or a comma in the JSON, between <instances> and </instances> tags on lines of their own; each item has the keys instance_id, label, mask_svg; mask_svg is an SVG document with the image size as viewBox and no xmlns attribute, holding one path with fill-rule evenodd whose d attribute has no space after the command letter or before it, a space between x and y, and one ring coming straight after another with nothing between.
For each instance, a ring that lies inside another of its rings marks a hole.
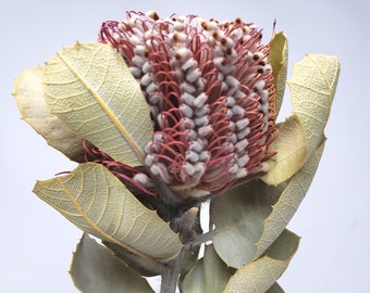
<instances>
[{"instance_id":1,"label":"whole banksia plant with red flower head, leaves and stem","mask_svg":"<svg viewBox=\"0 0 370 293\"><path fill-rule=\"evenodd\" d=\"M85 232L81 291L153 292L144 277L162 276L163 293L283 292L299 242L285 227L318 167L340 65L296 63L294 113L276 124L286 72L283 33L263 44L242 18L128 12L16 78L22 118L79 164L34 192Z\"/></svg>"}]
</instances>

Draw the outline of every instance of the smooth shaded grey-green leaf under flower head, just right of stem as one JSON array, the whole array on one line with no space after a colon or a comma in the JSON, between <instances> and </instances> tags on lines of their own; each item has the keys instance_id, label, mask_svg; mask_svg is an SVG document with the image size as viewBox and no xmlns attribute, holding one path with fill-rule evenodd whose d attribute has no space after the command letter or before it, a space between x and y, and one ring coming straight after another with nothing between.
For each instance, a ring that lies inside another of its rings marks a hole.
<instances>
[{"instance_id":1,"label":"smooth shaded grey-green leaf under flower head, just right of stem","mask_svg":"<svg viewBox=\"0 0 370 293\"><path fill-rule=\"evenodd\" d=\"M254 180L211 200L213 245L227 266L239 268L256 258L256 243L279 195L279 188Z\"/></svg>"}]
</instances>

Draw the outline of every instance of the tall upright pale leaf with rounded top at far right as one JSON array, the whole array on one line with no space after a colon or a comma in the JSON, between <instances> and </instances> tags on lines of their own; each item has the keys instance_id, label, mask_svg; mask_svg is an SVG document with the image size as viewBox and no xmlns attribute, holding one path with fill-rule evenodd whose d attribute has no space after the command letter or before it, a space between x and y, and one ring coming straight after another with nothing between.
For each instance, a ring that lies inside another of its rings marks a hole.
<instances>
[{"instance_id":1,"label":"tall upright pale leaf with rounded top at far right","mask_svg":"<svg viewBox=\"0 0 370 293\"><path fill-rule=\"evenodd\" d=\"M288 86L307 142L306 161L322 141L338 77L336 56L311 54L294 64Z\"/></svg>"}]
</instances>

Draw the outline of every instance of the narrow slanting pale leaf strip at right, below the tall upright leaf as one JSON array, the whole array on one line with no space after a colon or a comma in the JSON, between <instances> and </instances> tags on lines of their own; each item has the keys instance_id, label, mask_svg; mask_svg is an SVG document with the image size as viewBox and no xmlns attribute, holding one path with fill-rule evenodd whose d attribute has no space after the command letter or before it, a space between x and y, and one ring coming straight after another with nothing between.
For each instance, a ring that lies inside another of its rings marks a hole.
<instances>
[{"instance_id":1,"label":"narrow slanting pale leaf strip at right, below the tall upright leaf","mask_svg":"<svg viewBox=\"0 0 370 293\"><path fill-rule=\"evenodd\" d=\"M272 206L272 213L264 221L261 239L256 244L257 256L264 253L297 212L300 202L304 200L313 180L324 145L325 140L321 142L320 148L312 153L301 169L294 175L284 188L279 201Z\"/></svg>"}]
</instances>

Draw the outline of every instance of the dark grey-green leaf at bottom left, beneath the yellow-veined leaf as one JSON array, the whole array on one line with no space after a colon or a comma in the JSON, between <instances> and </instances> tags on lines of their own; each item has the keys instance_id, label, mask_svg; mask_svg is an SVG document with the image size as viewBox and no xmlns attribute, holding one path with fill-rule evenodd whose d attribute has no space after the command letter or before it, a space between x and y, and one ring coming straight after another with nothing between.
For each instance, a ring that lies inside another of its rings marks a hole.
<instances>
[{"instance_id":1,"label":"dark grey-green leaf at bottom left, beneath the yellow-veined leaf","mask_svg":"<svg viewBox=\"0 0 370 293\"><path fill-rule=\"evenodd\" d=\"M145 278L85 233L73 255L70 273L85 293L155 292Z\"/></svg>"}]
</instances>

